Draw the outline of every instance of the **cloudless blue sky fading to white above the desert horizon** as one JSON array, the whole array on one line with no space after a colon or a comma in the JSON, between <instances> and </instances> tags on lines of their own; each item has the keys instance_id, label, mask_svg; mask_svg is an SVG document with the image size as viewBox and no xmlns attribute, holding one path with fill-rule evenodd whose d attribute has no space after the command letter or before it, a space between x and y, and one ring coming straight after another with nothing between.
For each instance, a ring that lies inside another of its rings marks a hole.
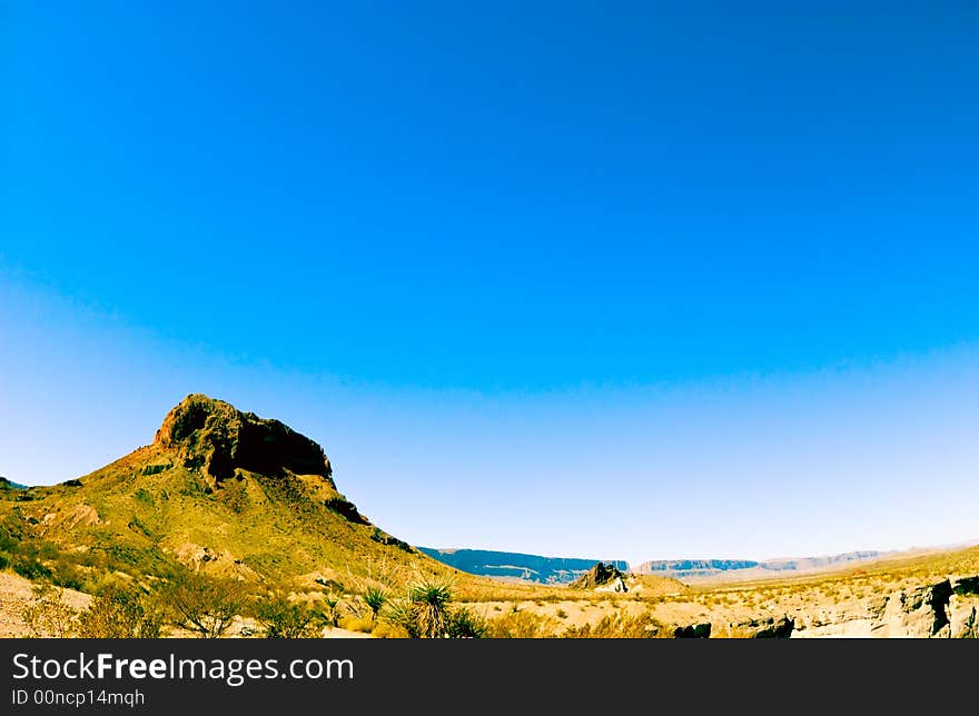
<instances>
[{"instance_id":1,"label":"cloudless blue sky fading to white above the desert horizon","mask_svg":"<svg viewBox=\"0 0 979 716\"><path fill-rule=\"evenodd\" d=\"M965 2L3 3L0 474L76 477L204 391L415 544L979 537L977 31Z\"/></svg>"}]
</instances>

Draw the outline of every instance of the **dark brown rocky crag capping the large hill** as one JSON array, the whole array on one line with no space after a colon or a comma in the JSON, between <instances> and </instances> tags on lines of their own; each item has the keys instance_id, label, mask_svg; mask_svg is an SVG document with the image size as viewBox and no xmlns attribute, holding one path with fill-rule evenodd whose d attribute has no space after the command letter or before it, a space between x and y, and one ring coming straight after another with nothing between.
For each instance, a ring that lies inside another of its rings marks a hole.
<instances>
[{"instance_id":1,"label":"dark brown rocky crag capping the large hill","mask_svg":"<svg viewBox=\"0 0 979 716\"><path fill-rule=\"evenodd\" d=\"M330 479L333 474L323 448L306 436L200 394L167 414L155 442L174 450L185 467L204 469L216 480L239 468L273 477L289 471Z\"/></svg>"}]
</instances>

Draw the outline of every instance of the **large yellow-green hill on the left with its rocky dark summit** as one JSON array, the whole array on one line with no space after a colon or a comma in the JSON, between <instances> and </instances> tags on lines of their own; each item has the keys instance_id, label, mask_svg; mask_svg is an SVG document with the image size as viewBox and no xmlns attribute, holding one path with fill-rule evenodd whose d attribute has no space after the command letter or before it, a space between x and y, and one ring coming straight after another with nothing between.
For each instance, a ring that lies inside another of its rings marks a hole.
<instances>
[{"instance_id":1,"label":"large yellow-green hill on the left with its rocky dark summit","mask_svg":"<svg viewBox=\"0 0 979 716\"><path fill-rule=\"evenodd\" d=\"M202 395L151 445L80 479L0 488L0 555L68 586L181 566L273 583L452 571L363 516L316 442Z\"/></svg>"}]
</instances>

